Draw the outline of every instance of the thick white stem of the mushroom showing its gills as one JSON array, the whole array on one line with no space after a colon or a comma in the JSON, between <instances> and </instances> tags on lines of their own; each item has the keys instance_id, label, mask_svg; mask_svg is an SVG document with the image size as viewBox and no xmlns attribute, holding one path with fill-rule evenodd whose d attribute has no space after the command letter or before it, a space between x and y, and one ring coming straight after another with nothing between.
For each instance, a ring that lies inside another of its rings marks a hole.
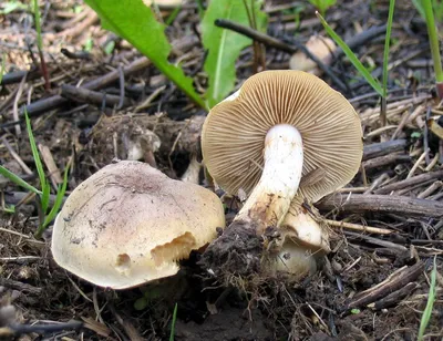
<instances>
[{"instance_id":1,"label":"thick white stem of the mushroom showing its gills","mask_svg":"<svg viewBox=\"0 0 443 341\"><path fill-rule=\"evenodd\" d=\"M297 193L303 166L301 135L289 124L271 127L265 140L265 167L235 221L257 221L258 234L279 226Z\"/></svg>"}]
</instances>

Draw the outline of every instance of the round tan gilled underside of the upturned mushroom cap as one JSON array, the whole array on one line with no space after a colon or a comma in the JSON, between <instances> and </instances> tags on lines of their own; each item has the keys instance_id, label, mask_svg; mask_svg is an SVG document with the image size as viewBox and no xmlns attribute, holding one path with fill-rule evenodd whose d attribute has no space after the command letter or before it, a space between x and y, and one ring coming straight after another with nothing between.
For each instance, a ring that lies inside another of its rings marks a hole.
<instances>
[{"instance_id":1,"label":"round tan gilled underside of the upturned mushroom cap","mask_svg":"<svg viewBox=\"0 0 443 341\"><path fill-rule=\"evenodd\" d=\"M214 106L203 126L205 165L223 189L236 195L241 188L250 194L261 176L265 136L281 123L295 126L302 137L299 198L317 202L353 178L363 142L352 105L312 74L265 71ZM320 179L303 184L303 176L319 170Z\"/></svg>"}]
</instances>

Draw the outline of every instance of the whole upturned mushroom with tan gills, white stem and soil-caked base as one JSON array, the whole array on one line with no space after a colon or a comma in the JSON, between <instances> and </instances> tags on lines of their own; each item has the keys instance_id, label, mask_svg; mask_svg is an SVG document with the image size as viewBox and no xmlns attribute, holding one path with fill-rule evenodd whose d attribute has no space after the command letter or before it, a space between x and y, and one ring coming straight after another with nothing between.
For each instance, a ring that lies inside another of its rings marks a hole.
<instances>
[{"instance_id":1,"label":"whole upturned mushroom with tan gills, white stem and soil-caked base","mask_svg":"<svg viewBox=\"0 0 443 341\"><path fill-rule=\"evenodd\" d=\"M362 151L358 114L319 78L301 71L266 71L249 78L212 108L202 132L204 162L215 182L229 194L243 189L248 196L234 221L206 249L205 266L213 271L229 269L223 262L233 257L226 254L248 252L256 244L241 239L255 234L262 240L269 228L280 235L280 255L274 260L285 259L288 250L300 258L301 248L328 251L328 236L303 203L349 183ZM305 258L293 264L311 269L311 258ZM250 265L251 257L235 257L239 259ZM282 260L279 267L287 264Z\"/></svg>"}]
</instances>

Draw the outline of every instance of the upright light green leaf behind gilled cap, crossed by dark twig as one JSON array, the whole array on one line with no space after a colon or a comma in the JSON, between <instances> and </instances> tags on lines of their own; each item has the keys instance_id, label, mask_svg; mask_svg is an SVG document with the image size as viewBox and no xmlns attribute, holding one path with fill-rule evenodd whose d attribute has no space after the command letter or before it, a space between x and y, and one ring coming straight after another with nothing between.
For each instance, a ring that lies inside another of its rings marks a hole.
<instances>
[{"instance_id":1,"label":"upright light green leaf behind gilled cap, crossed by dark twig","mask_svg":"<svg viewBox=\"0 0 443 341\"><path fill-rule=\"evenodd\" d=\"M267 18L260 11L261 1L255 1L254 6L257 29L262 31L266 28ZM236 81L235 63L241 50L253 43L245 35L216 27L214 23L216 19L227 19L249 25L244 1L210 1L202 21L203 45L208 50L204 69L209 79L209 87L206 93L209 107L223 101L233 91Z\"/></svg>"}]
</instances>

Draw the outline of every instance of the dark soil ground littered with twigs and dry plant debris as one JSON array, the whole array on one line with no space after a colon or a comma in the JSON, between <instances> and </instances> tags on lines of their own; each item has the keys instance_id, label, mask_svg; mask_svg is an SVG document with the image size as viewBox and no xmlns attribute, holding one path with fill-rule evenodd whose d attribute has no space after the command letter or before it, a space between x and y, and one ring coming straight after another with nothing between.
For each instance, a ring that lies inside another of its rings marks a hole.
<instances>
[{"instance_id":1,"label":"dark soil ground littered with twigs and dry plant debris","mask_svg":"<svg viewBox=\"0 0 443 341\"><path fill-rule=\"evenodd\" d=\"M305 10L297 14L296 4L266 1L267 33L288 45L295 39L305 43L312 34L326 37L313 7L306 2ZM171 60L185 56L185 73L194 75L197 85L205 89L206 78L202 75L205 53L197 34L198 10L194 3L188 1L167 34L181 44ZM0 4L0 10L4 6ZM44 89L39 74L30 12L21 9L0 14L0 55L6 56L6 76L0 87L0 164L34 186L39 185L37 168L25 127L14 124L14 101L20 107L48 99L59 94L62 84L97 79L141 56L127 42L101 29L96 16L85 6L83 11L75 12L79 6L82 2L74 0L41 2L50 90ZM326 18L349 40L371 27L384 24L388 9L389 1L340 1L327 11ZM69 58L61 52L61 48L82 52L91 40L93 48L87 59ZM106 54L104 48L110 42L115 46ZM353 48L378 78L381 78L383 46L381 34ZM267 69L288 69L289 58L282 50L266 48ZM237 62L236 86L258 68L251 61L254 50L248 48ZM174 277L113 291L87 283L54 262L51 226L42 239L34 238L39 224L35 199L0 176L0 339L169 340L173 331L175 340L186 341L416 340L435 261L437 289L425 340L441 340L443 211L420 214L420 205L426 204L432 211L432 207L443 204L443 143L425 124L430 116L441 117L443 108L436 99L426 27L410 1L398 1L395 6L390 63L385 127L380 125L379 96L349 60L341 55L329 66L346 83L342 93L361 116L365 146L404 141L394 149L387 145L377 155L367 154L363 170L341 195L349 200L352 193L416 199L419 208L414 215L399 208L390 210L382 204L356 211L342 210L340 205L334 209L322 209L319 205L326 219L354 224L361 229L334 228L331 252L321 259L316 273L297 282L267 278L253 289L247 283L239 285L240 281L233 286L233 281L219 273L207 271L208 261L219 265L226 259L202 259L202 254L195 252L182 262ZM29 71L22 83L22 76L13 79L19 71ZM321 78L337 87L330 75ZM112 159L127 157L130 143L140 143L141 161L173 178L181 178L194 157L202 159L199 132L206 112L153 65L125 76L124 82L131 104L121 110L69 100L63 105L31 113L37 143L47 147L45 156L52 157L55 165L50 170L45 158L52 193L66 165L72 167L69 195ZM119 95L119 80L105 90L106 94ZM151 102L146 103L151 95ZM408 121L408 115L413 120ZM159 147L155 147L157 142ZM420 176L424 174L427 177L422 180ZM199 184L207 186L203 172L197 175ZM413 183L404 183L411 177L415 179ZM389 193L382 192L395 184ZM240 200L226 195L223 198L229 224ZM11 205L16 206L14 214L8 211ZM364 226L390 232L371 232ZM260 240L246 234L240 241L257 252ZM244 244L230 241L238 250L245 250ZM230 241L224 247L231 247ZM233 248L223 252L226 257L238 256ZM250 268L237 265L237 270L250 275L257 267L255 259Z\"/></svg>"}]
</instances>

